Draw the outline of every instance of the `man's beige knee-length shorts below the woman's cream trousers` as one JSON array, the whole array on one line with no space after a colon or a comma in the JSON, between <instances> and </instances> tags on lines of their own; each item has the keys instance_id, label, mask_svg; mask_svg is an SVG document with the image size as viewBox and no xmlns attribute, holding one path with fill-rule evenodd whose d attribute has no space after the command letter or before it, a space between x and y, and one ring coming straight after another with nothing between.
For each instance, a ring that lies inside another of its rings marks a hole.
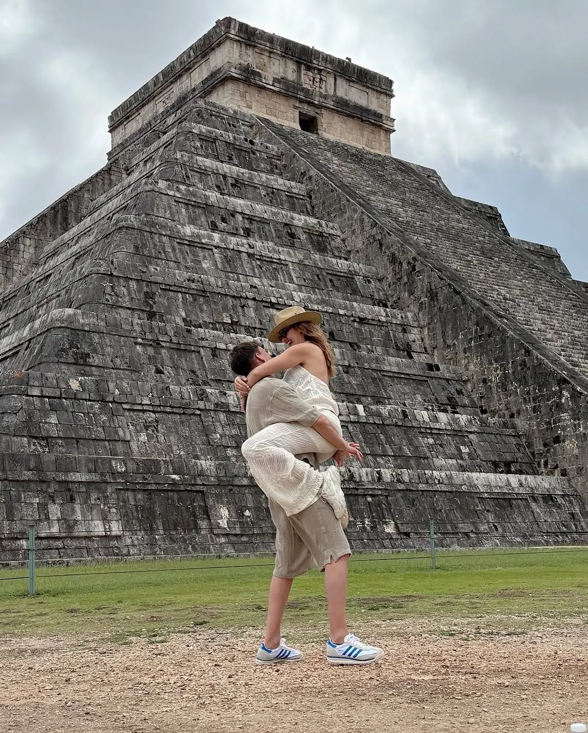
<instances>
[{"instance_id":1,"label":"man's beige knee-length shorts below the woman's cream trousers","mask_svg":"<svg viewBox=\"0 0 588 733\"><path fill-rule=\"evenodd\" d=\"M278 578L295 578L312 567L323 570L331 560L350 555L349 542L331 505L317 498L314 504L290 517L269 500L276 525L276 567Z\"/></svg>"}]
</instances>

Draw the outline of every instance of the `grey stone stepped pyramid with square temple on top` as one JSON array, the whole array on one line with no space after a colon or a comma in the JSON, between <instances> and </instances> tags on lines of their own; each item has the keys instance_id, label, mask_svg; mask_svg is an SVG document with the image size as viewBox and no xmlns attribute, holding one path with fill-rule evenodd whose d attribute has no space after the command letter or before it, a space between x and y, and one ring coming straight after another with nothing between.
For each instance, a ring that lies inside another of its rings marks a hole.
<instances>
[{"instance_id":1,"label":"grey stone stepped pyramid with square temple on top","mask_svg":"<svg viewBox=\"0 0 588 733\"><path fill-rule=\"evenodd\" d=\"M588 284L391 154L392 81L224 18L0 248L0 561L273 550L227 356L323 313L356 550L588 537Z\"/></svg>"}]
</instances>

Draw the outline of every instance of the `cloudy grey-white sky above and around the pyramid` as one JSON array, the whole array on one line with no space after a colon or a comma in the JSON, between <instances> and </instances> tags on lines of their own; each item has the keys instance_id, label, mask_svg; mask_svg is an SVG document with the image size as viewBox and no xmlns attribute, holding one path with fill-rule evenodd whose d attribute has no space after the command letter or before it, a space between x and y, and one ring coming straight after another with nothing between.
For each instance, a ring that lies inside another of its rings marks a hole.
<instances>
[{"instance_id":1,"label":"cloudy grey-white sky above and around the pyramid","mask_svg":"<svg viewBox=\"0 0 588 733\"><path fill-rule=\"evenodd\" d=\"M588 281L588 0L0 0L0 240L103 166L109 112L225 15L389 75L393 154Z\"/></svg>"}]
</instances>

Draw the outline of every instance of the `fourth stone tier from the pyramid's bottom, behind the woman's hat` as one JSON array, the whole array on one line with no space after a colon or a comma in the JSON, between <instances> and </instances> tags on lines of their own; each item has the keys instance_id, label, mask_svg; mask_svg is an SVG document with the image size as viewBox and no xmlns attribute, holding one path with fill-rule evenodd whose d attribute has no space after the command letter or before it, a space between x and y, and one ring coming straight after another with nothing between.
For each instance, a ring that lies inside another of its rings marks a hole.
<instances>
[{"instance_id":1,"label":"fourth stone tier from the pyramid's bottom, behind the woman's hat","mask_svg":"<svg viewBox=\"0 0 588 733\"><path fill-rule=\"evenodd\" d=\"M47 297L36 306L30 301L22 303L26 293L22 289L21 297L6 301L7 307L0 316L0 340L16 338L23 325L32 325L33 317L38 321L64 309L106 314L114 308L121 323L149 320L186 328L198 328L204 323L215 328L223 324L229 333L241 326L249 337L265 336L276 311L304 303L307 309L323 315L323 327L333 342L349 344L354 350L361 350L364 345L368 350L373 347L383 356L388 353L427 358L422 329L416 320L395 309L374 306L369 298L333 297L330 293L325 295L325 289L319 286L287 290L287 284L265 285L261 278L252 276L229 280L169 268L150 267L144 272L138 269L138 263L131 261L74 270L59 290L48 288Z\"/></svg>"}]
</instances>

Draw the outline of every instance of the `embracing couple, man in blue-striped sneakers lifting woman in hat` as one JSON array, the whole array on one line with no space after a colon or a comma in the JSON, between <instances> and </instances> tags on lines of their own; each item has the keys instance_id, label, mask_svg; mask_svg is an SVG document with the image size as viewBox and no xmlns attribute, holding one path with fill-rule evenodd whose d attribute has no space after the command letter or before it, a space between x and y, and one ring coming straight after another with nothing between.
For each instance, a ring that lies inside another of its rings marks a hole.
<instances>
[{"instance_id":1,"label":"embracing couple, man in blue-striped sneakers lifting woman in hat","mask_svg":"<svg viewBox=\"0 0 588 733\"><path fill-rule=\"evenodd\" d=\"M270 583L265 638L257 662L302 658L281 636L281 623L293 578L311 567L325 572L331 664L368 664L381 659L379 647L349 632L345 621L350 548L348 511L337 466L363 458L357 443L342 438L339 406L328 382L335 373L334 352L319 328L320 314L291 306L275 315L268 334L286 349L272 357L257 342L235 346L229 364L240 375L235 388L246 411L247 440L242 452L257 485L268 496L276 525L276 566ZM284 371L282 380L273 375ZM319 471L333 458L337 465Z\"/></svg>"}]
</instances>

